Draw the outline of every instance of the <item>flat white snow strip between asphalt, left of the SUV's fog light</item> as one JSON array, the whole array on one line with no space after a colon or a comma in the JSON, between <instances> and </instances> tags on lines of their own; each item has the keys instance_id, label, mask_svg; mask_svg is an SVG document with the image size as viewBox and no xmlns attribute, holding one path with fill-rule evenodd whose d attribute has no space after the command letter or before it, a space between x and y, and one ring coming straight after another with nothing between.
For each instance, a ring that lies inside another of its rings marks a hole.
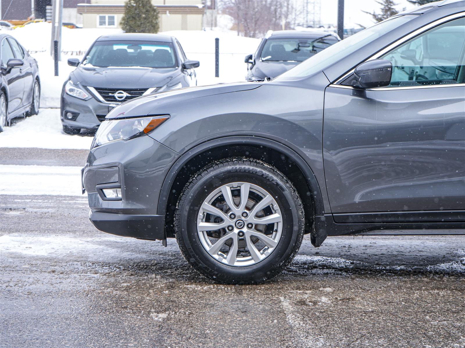
<instances>
[{"instance_id":1,"label":"flat white snow strip between asphalt, left of the SUV's fog light","mask_svg":"<svg viewBox=\"0 0 465 348\"><path fill-rule=\"evenodd\" d=\"M80 167L0 165L0 194L82 196Z\"/></svg>"}]
</instances>

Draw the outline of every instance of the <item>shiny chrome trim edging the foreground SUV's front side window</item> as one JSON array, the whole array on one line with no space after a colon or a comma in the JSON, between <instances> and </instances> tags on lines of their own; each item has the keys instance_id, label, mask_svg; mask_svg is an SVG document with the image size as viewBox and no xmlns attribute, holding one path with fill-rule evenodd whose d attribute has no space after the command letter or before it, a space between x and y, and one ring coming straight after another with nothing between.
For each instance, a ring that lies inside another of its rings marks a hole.
<instances>
[{"instance_id":1,"label":"shiny chrome trim edging the foreground SUV's front side window","mask_svg":"<svg viewBox=\"0 0 465 348\"><path fill-rule=\"evenodd\" d=\"M428 30L430 30L431 28L435 27L435 26L439 26L443 23L446 23L446 22L449 22L450 20L452 19L457 19L457 18L461 18L461 17L465 17L465 12L460 12L460 13L455 13L455 14L451 14L450 16L447 16L447 17L443 17L441 19L438 19L426 26L422 26L421 28L415 30L414 32L411 32L410 34L407 34L405 36L403 36L402 38L398 39L397 41L394 41L391 45L388 45L387 47L383 48L382 50L376 52L375 54L373 54L371 57L369 58L366 58L363 62L360 62L359 64L362 64L362 63L365 63L366 61L368 60L371 60L371 59L378 59L379 57L383 56L385 53L389 52L389 51L392 51L394 48L404 44L406 41L414 38L415 36L418 36ZM359 65L357 64L357 65ZM355 70L355 67L352 68L351 70L347 71L345 74L343 74L341 77L338 77L336 80L334 80L332 82L332 84L335 84L335 85L339 85L341 84L347 77L349 77L350 75L353 74L353 71ZM457 86L459 84L451 84L451 86ZM449 86L448 84L442 84L442 85L439 85L441 87L445 87L445 86ZM334 86L336 87L336 86ZM347 86L347 87L350 87L352 89L355 89L351 86ZM425 88L426 86L414 86L413 88ZM388 87L388 88L385 88L385 87L382 87L382 89L412 89L412 86L405 86L405 87ZM381 88L380 88L381 89Z\"/></svg>"}]
</instances>

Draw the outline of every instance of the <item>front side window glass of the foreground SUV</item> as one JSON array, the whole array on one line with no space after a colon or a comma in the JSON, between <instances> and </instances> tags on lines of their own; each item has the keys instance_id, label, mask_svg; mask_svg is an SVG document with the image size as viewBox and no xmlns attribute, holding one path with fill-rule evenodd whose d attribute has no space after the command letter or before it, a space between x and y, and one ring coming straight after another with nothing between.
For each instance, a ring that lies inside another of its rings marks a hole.
<instances>
[{"instance_id":1,"label":"front side window glass of the foreground SUV","mask_svg":"<svg viewBox=\"0 0 465 348\"><path fill-rule=\"evenodd\" d=\"M386 53L392 63L388 87L465 82L465 18L437 26Z\"/></svg>"}]
</instances>

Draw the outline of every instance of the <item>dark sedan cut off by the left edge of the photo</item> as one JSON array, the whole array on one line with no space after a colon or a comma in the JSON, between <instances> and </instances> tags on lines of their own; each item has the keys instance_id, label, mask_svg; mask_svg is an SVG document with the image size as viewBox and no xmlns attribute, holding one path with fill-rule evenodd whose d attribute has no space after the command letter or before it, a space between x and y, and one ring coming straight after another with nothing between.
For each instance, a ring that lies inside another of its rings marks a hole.
<instances>
[{"instance_id":1,"label":"dark sedan cut off by the left edge of the photo","mask_svg":"<svg viewBox=\"0 0 465 348\"><path fill-rule=\"evenodd\" d=\"M0 131L17 116L39 113L37 61L8 34L0 35Z\"/></svg>"}]
</instances>

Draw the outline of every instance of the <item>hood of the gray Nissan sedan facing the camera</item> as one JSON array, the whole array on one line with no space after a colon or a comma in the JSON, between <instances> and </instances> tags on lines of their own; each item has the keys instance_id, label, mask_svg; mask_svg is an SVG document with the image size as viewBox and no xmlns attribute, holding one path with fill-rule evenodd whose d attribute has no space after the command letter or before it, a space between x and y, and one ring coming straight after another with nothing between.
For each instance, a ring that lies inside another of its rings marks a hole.
<instances>
[{"instance_id":1,"label":"hood of the gray Nissan sedan facing the camera","mask_svg":"<svg viewBox=\"0 0 465 348\"><path fill-rule=\"evenodd\" d=\"M73 83L98 88L161 87L179 75L178 68L97 68L79 66L71 74Z\"/></svg>"}]
</instances>

